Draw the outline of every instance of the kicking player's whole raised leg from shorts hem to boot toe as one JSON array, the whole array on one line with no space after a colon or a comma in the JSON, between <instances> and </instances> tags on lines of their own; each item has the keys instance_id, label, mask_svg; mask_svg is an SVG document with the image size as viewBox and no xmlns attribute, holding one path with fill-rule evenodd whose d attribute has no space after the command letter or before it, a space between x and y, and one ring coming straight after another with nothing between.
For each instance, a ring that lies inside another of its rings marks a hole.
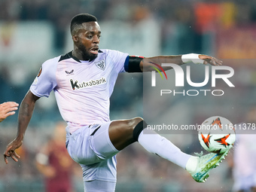
<instances>
[{"instance_id":1,"label":"kicking player's whole raised leg from shorts hem to boot toe","mask_svg":"<svg viewBox=\"0 0 256 192\"><path fill-rule=\"evenodd\" d=\"M138 141L147 151L187 169L194 180L198 182L205 181L209 177L209 171L218 166L227 155L227 152L225 154L206 154L201 157L184 154L172 142L153 130L147 130L147 133L144 134L142 130L146 127L147 124L140 117L131 120L116 120L109 126L109 137L117 150L122 150Z\"/></svg>"}]
</instances>

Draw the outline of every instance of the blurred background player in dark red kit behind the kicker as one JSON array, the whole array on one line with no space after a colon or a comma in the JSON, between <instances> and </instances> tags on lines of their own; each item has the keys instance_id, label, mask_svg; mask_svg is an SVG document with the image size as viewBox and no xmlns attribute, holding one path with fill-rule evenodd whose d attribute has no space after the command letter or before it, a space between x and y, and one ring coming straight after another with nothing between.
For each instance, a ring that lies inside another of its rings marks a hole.
<instances>
[{"instance_id":1,"label":"blurred background player in dark red kit behind the kicker","mask_svg":"<svg viewBox=\"0 0 256 192\"><path fill-rule=\"evenodd\" d=\"M56 123L51 139L35 156L35 165L44 175L45 192L72 192L74 161L66 150L64 122Z\"/></svg>"}]
</instances>

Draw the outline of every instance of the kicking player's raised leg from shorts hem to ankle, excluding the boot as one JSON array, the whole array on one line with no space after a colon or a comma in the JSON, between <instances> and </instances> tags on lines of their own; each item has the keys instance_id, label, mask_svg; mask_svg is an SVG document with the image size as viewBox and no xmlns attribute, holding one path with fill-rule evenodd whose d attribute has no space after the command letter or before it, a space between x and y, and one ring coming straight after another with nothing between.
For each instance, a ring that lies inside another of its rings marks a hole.
<instances>
[{"instance_id":1,"label":"kicking player's raised leg from shorts hem to ankle, excluding the boot","mask_svg":"<svg viewBox=\"0 0 256 192\"><path fill-rule=\"evenodd\" d=\"M145 127L146 123L141 117L130 120L115 120L109 126L109 137L117 150L122 150L133 142L139 142L147 151L185 169L187 160L191 156L184 154L172 142L155 132L143 134L142 130Z\"/></svg>"}]
</instances>

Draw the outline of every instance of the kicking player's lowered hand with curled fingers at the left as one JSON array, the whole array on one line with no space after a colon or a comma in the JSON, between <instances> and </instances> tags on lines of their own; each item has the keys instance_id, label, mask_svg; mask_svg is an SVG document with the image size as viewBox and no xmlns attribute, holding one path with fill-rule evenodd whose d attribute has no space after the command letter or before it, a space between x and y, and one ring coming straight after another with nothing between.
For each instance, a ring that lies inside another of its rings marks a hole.
<instances>
[{"instance_id":1,"label":"kicking player's lowered hand with curled fingers at the left","mask_svg":"<svg viewBox=\"0 0 256 192\"><path fill-rule=\"evenodd\" d=\"M14 161L18 161L20 159L20 155L18 155L15 150L17 148L20 148L22 145L22 141L19 141L17 139L14 139L9 145L7 145L5 153L4 153L4 158L5 158L5 163L8 164L8 157L11 157Z\"/></svg>"}]
</instances>

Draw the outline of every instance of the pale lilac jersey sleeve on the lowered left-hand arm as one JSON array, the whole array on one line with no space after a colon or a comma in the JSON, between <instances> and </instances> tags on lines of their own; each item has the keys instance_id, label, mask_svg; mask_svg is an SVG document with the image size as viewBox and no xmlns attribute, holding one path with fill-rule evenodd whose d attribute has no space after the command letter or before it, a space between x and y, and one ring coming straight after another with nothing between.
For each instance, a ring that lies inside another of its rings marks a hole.
<instances>
[{"instance_id":1,"label":"pale lilac jersey sleeve on the lowered left-hand arm","mask_svg":"<svg viewBox=\"0 0 256 192\"><path fill-rule=\"evenodd\" d=\"M38 75L30 87L30 91L38 97L50 95L50 92L57 86L56 66L58 59L49 59L43 63Z\"/></svg>"}]
</instances>

